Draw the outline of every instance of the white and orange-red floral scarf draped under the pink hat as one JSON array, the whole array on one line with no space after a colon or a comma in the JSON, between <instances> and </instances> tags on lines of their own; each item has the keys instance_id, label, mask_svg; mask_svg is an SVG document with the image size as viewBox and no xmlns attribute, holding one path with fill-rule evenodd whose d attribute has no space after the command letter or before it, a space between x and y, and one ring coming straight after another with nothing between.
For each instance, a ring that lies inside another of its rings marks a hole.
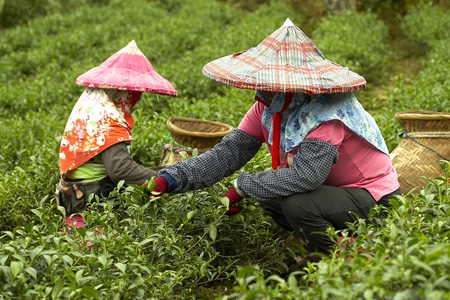
<instances>
[{"instance_id":1,"label":"white and orange-red floral scarf draped under the pink hat","mask_svg":"<svg viewBox=\"0 0 450 300\"><path fill-rule=\"evenodd\" d=\"M73 170L104 149L133 139L131 110L141 92L87 88L67 121L60 147L60 172Z\"/></svg>"}]
</instances>

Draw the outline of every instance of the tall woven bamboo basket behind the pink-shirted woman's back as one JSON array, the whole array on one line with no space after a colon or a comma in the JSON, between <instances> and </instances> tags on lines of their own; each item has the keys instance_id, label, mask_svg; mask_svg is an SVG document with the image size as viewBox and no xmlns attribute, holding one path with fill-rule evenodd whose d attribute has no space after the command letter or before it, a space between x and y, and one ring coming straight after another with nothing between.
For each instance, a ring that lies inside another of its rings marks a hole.
<instances>
[{"instance_id":1,"label":"tall woven bamboo basket behind the pink-shirted woman's back","mask_svg":"<svg viewBox=\"0 0 450 300\"><path fill-rule=\"evenodd\" d=\"M442 175L438 161L450 157L450 113L404 111L397 113L395 118L404 132L391 158L400 188L406 194L415 187L428 184L421 176Z\"/></svg>"}]
</instances>

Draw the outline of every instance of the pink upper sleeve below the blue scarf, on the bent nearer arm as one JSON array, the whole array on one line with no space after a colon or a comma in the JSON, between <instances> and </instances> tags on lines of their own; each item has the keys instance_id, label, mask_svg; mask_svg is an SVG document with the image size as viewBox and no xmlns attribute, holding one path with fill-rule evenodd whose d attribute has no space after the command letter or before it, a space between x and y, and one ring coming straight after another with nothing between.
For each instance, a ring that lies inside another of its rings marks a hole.
<instances>
[{"instance_id":1,"label":"pink upper sleeve below the blue scarf, on the bent nearer arm","mask_svg":"<svg viewBox=\"0 0 450 300\"><path fill-rule=\"evenodd\" d=\"M347 130L347 126L341 121L331 120L320 123L315 129L311 130L305 138L324 141L339 149Z\"/></svg>"}]
</instances>

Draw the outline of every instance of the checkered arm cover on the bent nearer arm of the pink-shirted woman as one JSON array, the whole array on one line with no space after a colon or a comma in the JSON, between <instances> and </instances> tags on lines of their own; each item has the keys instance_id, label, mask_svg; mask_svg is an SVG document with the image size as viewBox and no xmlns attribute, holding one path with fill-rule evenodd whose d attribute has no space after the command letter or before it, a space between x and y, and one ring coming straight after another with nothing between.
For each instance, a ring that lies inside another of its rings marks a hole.
<instances>
[{"instance_id":1,"label":"checkered arm cover on the bent nearer arm of the pink-shirted woman","mask_svg":"<svg viewBox=\"0 0 450 300\"><path fill-rule=\"evenodd\" d=\"M260 201L312 191L319 187L338 160L338 150L330 143L304 139L289 168L249 174L237 179L239 189Z\"/></svg>"}]
</instances>

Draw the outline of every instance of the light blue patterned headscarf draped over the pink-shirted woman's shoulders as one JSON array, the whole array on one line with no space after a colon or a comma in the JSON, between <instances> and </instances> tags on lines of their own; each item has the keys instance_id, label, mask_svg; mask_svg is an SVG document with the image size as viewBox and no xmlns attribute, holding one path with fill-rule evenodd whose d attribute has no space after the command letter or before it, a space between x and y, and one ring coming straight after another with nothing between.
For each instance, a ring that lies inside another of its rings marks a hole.
<instances>
[{"instance_id":1,"label":"light blue patterned headscarf draped over the pink-shirted woman's shoulders","mask_svg":"<svg viewBox=\"0 0 450 300\"><path fill-rule=\"evenodd\" d=\"M257 91L256 96L265 101L261 91ZM281 111L285 97L286 93L277 93L270 107L266 108L262 115L262 124L269 130L269 144L272 144L273 137L273 115ZM320 123L330 120L342 121L381 152L389 154L375 120L352 93L294 94L289 107L282 113L280 148L290 152L300 145L308 132Z\"/></svg>"}]
</instances>

